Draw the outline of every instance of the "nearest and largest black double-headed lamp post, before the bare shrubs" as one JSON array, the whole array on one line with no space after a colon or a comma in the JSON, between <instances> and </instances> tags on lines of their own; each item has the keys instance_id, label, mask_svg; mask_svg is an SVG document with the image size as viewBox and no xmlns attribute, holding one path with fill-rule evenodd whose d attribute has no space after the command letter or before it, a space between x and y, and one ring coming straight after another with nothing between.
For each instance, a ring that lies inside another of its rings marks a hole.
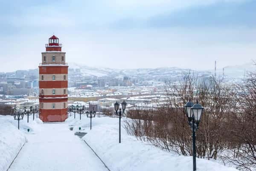
<instances>
[{"instance_id":1,"label":"nearest and largest black double-headed lamp post, before the bare shrubs","mask_svg":"<svg viewBox=\"0 0 256 171\"><path fill-rule=\"evenodd\" d=\"M184 105L184 110L186 112L186 116L188 117L189 125L192 128L193 171L196 171L195 131L199 127L204 108L198 103L198 101L194 104L189 99L189 102Z\"/></svg>"}]
</instances>

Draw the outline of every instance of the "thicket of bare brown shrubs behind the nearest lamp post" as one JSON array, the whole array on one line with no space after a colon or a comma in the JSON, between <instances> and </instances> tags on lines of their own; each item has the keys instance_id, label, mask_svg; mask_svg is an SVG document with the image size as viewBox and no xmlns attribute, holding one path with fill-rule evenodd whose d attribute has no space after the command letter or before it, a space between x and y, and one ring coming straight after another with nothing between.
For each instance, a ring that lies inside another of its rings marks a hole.
<instances>
[{"instance_id":1,"label":"thicket of bare brown shrubs behind the nearest lamp post","mask_svg":"<svg viewBox=\"0 0 256 171\"><path fill-rule=\"evenodd\" d=\"M197 157L219 157L241 170L256 168L256 74L235 86L188 73L177 83L166 82L166 94L169 104L156 111L130 111L126 131L168 151L192 155L192 131L183 105L198 100L205 111L196 132Z\"/></svg>"}]
</instances>

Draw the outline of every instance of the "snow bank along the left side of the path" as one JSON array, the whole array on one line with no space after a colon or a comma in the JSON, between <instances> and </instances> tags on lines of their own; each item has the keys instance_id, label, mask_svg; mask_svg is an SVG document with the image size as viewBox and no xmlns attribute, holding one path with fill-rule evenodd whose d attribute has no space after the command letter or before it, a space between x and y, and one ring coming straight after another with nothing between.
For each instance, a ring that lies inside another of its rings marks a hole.
<instances>
[{"instance_id":1,"label":"snow bank along the left side of the path","mask_svg":"<svg viewBox=\"0 0 256 171\"><path fill-rule=\"evenodd\" d=\"M26 122L27 120L20 120L20 130L18 130L17 120L12 116L0 115L0 171L6 171L9 168L20 148L27 141L25 134L33 134L35 129L40 127L38 123L42 123L39 119Z\"/></svg>"}]
</instances>

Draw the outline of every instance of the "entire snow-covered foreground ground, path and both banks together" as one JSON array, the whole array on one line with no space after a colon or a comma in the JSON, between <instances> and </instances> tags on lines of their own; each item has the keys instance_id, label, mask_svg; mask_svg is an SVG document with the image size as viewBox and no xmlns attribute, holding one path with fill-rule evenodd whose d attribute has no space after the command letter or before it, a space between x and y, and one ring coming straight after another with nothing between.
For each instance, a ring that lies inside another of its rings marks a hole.
<instances>
[{"instance_id":1,"label":"entire snow-covered foreground ground, path and both banks together","mask_svg":"<svg viewBox=\"0 0 256 171\"><path fill-rule=\"evenodd\" d=\"M24 116L18 130L13 117L0 116L0 171L6 171L9 166L9 171L192 170L192 157L177 156L138 141L124 128L119 144L118 122L118 118L96 116L90 130L86 115L82 115L82 120L72 116L65 123L44 124L39 119L33 121L31 116L27 123ZM87 134L80 139L76 132ZM197 159L197 170L237 171L204 159Z\"/></svg>"}]
</instances>

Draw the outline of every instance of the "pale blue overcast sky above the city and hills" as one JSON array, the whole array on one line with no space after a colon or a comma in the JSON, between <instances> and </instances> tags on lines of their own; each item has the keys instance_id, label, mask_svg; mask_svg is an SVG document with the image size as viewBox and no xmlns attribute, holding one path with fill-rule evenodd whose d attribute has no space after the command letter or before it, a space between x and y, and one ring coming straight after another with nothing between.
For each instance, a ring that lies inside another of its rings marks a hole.
<instances>
[{"instance_id":1,"label":"pale blue overcast sky above the city and hills","mask_svg":"<svg viewBox=\"0 0 256 171\"><path fill-rule=\"evenodd\" d=\"M256 0L0 0L0 71L37 68L53 32L67 62L222 68L256 59Z\"/></svg>"}]
</instances>

